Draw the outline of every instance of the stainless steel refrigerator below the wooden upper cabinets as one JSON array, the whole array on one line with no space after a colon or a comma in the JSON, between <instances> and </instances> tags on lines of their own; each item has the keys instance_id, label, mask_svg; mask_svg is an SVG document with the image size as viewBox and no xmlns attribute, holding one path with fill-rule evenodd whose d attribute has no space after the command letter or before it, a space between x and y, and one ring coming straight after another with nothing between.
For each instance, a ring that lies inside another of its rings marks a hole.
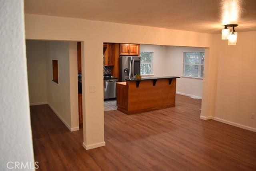
<instances>
[{"instance_id":1,"label":"stainless steel refrigerator below the wooden upper cabinets","mask_svg":"<svg viewBox=\"0 0 256 171\"><path fill-rule=\"evenodd\" d=\"M140 56L120 56L120 80L135 78L140 74Z\"/></svg>"}]
</instances>

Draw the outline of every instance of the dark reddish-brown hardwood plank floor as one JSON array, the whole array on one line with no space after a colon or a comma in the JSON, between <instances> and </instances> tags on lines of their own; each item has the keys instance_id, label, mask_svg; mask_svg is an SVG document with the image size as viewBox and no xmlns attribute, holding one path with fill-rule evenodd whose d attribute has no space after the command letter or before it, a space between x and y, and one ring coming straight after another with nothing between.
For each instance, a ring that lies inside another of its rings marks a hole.
<instances>
[{"instance_id":1,"label":"dark reddish-brown hardwood plank floor","mask_svg":"<svg viewBox=\"0 0 256 171\"><path fill-rule=\"evenodd\" d=\"M45 171L255 171L256 133L199 118L201 100L126 115L105 111L106 146L85 150L48 105L31 106L34 157Z\"/></svg>"}]
</instances>

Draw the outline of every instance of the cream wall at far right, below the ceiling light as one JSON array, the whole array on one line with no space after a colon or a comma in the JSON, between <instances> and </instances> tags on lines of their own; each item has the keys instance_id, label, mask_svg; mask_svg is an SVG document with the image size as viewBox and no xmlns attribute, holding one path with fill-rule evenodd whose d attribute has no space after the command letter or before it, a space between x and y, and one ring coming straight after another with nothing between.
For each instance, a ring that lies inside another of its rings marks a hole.
<instances>
[{"instance_id":1,"label":"cream wall at far right, below the ceiling light","mask_svg":"<svg viewBox=\"0 0 256 171\"><path fill-rule=\"evenodd\" d=\"M240 32L237 45L216 35L218 77L214 119L256 131L256 32ZM239 125L238 125L239 124Z\"/></svg>"}]
</instances>

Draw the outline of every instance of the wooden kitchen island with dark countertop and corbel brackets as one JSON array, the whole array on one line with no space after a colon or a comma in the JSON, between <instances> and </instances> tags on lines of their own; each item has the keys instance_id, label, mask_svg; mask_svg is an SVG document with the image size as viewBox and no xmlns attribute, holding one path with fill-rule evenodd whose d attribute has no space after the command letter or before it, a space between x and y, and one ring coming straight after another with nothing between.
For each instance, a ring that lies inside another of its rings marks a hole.
<instances>
[{"instance_id":1,"label":"wooden kitchen island with dark countertop and corbel brackets","mask_svg":"<svg viewBox=\"0 0 256 171\"><path fill-rule=\"evenodd\" d=\"M130 115L175 106L177 76L126 79L116 83L117 109Z\"/></svg>"}]
</instances>

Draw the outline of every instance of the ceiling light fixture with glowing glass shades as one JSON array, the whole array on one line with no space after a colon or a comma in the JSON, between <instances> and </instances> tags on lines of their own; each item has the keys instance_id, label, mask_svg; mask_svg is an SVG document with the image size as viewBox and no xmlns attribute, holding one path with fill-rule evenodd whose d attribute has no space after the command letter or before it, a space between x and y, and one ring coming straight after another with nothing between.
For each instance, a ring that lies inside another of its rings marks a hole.
<instances>
[{"instance_id":1,"label":"ceiling light fixture with glowing glass shades","mask_svg":"<svg viewBox=\"0 0 256 171\"><path fill-rule=\"evenodd\" d=\"M236 26L238 26L238 24L227 24L225 25L225 28L222 29L221 39L228 40L228 45L236 45L236 40L237 40L237 32L235 31ZM233 28L231 33L228 27Z\"/></svg>"}]
</instances>

